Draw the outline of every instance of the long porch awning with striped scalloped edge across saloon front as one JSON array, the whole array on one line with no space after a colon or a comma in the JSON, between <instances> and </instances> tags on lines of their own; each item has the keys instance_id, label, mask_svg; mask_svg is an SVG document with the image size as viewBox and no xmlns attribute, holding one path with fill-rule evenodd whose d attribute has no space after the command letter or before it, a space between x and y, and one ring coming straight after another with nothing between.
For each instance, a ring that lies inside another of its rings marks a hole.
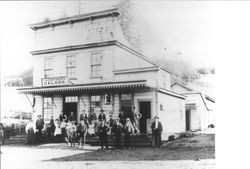
<instances>
[{"instance_id":1,"label":"long porch awning with striped scalloped edge across saloon front","mask_svg":"<svg viewBox=\"0 0 250 169\"><path fill-rule=\"evenodd\" d=\"M139 81L120 81L120 82L106 82L106 83L89 83L82 85L65 85L65 86L49 86L49 87L32 87L19 88L19 93L23 94L46 94L58 92L76 92L86 90L98 89L121 89L121 88L138 88L147 87L147 80Z\"/></svg>"}]
</instances>

